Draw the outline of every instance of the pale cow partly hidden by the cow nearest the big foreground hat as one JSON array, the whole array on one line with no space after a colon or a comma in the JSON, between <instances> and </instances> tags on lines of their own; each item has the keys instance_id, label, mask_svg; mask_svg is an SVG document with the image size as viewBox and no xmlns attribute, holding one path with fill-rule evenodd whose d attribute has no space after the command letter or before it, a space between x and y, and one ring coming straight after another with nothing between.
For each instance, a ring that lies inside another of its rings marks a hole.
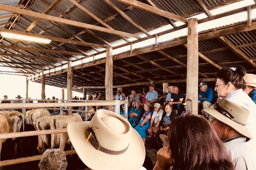
<instances>
[{"instance_id":1,"label":"pale cow partly hidden by the cow nearest the big foreground hat","mask_svg":"<svg viewBox=\"0 0 256 170\"><path fill-rule=\"evenodd\" d=\"M47 130L50 129L50 120L56 118L57 116L64 115L55 115L55 116L44 116L39 117L33 122L34 128L36 130ZM38 135L38 145L37 150L40 154L44 153L46 149L50 148L51 135Z\"/></svg>"}]
</instances>

